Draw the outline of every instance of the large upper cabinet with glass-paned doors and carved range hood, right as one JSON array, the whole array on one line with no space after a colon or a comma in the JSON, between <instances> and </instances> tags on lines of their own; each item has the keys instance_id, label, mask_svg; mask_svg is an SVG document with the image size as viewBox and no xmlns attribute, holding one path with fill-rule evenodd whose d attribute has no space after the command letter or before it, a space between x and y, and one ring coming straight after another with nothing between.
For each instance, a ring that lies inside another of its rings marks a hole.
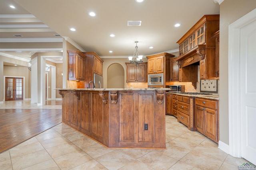
<instances>
[{"instance_id":1,"label":"large upper cabinet with glass-paned doors and carved range hood, right","mask_svg":"<svg viewBox=\"0 0 256 170\"><path fill-rule=\"evenodd\" d=\"M220 15L205 15L177 42L179 57L176 61L181 69L200 63L200 79L218 78L216 74L219 64L218 56L216 56L218 35L216 32L219 30L219 25Z\"/></svg>"}]
</instances>

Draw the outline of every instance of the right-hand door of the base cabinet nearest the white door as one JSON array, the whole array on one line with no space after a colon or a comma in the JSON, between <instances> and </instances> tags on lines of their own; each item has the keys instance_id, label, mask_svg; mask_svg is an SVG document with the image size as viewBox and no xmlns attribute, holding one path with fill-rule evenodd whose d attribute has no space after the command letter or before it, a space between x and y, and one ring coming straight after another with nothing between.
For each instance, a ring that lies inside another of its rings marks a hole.
<instances>
[{"instance_id":1,"label":"right-hand door of the base cabinet nearest the white door","mask_svg":"<svg viewBox=\"0 0 256 170\"><path fill-rule=\"evenodd\" d=\"M217 141L217 110L205 108L205 124L204 133L210 139Z\"/></svg>"}]
</instances>

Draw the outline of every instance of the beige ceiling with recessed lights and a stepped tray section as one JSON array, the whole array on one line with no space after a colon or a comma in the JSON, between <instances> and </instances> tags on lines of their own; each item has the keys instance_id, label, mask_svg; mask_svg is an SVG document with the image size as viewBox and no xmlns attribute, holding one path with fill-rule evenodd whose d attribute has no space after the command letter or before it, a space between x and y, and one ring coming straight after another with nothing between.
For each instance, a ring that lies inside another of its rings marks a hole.
<instances>
[{"instance_id":1,"label":"beige ceiling with recessed lights and a stepped tray section","mask_svg":"<svg viewBox=\"0 0 256 170\"><path fill-rule=\"evenodd\" d=\"M0 54L29 59L36 52L60 52L62 37L102 58L133 55L134 41L144 57L176 52L176 42L203 15L219 11L214 0L1 0ZM127 26L137 20L141 26Z\"/></svg>"}]
</instances>

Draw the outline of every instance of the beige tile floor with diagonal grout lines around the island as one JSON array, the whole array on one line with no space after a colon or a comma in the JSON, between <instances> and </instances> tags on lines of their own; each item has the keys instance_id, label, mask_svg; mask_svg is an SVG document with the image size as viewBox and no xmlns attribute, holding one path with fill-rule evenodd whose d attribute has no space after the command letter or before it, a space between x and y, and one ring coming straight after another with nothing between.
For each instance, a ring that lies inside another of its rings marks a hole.
<instances>
[{"instance_id":1,"label":"beige tile floor with diagonal grout lines around the island","mask_svg":"<svg viewBox=\"0 0 256 170\"><path fill-rule=\"evenodd\" d=\"M25 101L11 107L49 107L28 105ZM10 103L0 104L0 109L6 107ZM0 154L0 170L238 170L245 162L170 115L166 149L108 149L60 123Z\"/></svg>"}]
</instances>

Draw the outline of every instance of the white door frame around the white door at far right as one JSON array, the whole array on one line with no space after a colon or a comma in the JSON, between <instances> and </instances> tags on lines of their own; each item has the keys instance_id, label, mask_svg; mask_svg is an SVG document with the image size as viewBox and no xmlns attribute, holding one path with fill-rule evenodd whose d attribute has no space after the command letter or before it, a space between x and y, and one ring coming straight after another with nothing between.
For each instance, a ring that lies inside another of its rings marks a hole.
<instances>
[{"instance_id":1,"label":"white door frame around the white door at far right","mask_svg":"<svg viewBox=\"0 0 256 170\"><path fill-rule=\"evenodd\" d=\"M256 9L228 26L229 154L241 157L240 29L256 21Z\"/></svg>"}]
</instances>

